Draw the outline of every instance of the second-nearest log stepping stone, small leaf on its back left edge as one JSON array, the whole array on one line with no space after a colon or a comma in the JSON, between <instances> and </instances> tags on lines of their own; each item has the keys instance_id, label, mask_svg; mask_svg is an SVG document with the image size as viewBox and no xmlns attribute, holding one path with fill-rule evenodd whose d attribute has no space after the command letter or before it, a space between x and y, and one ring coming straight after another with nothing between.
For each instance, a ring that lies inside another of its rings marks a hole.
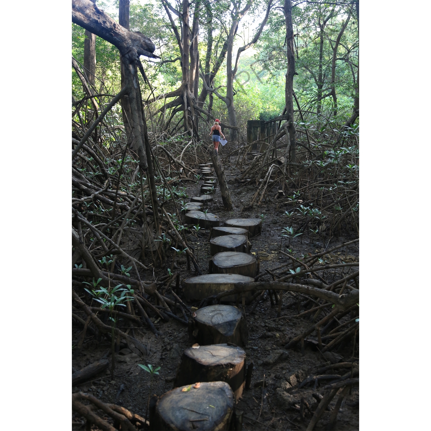
<instances>
[{"instance_id":1,"label":"second-nearest log stepping stone, small leaf on its back left edge","mask_svg":"<svg viewBox=\"0 0 431 431\"><path fill-rule=\"evenodd\" d=\"M177 370L174 387L204 381L225 381L235 400L243 391L245 380L245 352L241 347L211 344L184 350Z\"/></svg>"}]
</instances>

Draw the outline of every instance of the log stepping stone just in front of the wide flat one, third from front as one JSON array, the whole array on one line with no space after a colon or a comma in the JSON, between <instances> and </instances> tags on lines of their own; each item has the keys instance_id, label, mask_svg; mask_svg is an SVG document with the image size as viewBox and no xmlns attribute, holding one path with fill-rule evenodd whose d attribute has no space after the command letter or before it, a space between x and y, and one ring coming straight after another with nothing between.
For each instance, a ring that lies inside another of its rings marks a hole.
<instances>
[{"instance_id":1,"label":"log stepping stone just in front of the wide flat one, third from front","mask_svg":"<svg viewBox=\"0 0 431 431\"><path fill-rule=\"evenodd\" d=\"M241 310L225 304L197 310L189 332L201 346L233 343L244 347L248 338L247 322Z\"/></svg>"}]
</instances>

